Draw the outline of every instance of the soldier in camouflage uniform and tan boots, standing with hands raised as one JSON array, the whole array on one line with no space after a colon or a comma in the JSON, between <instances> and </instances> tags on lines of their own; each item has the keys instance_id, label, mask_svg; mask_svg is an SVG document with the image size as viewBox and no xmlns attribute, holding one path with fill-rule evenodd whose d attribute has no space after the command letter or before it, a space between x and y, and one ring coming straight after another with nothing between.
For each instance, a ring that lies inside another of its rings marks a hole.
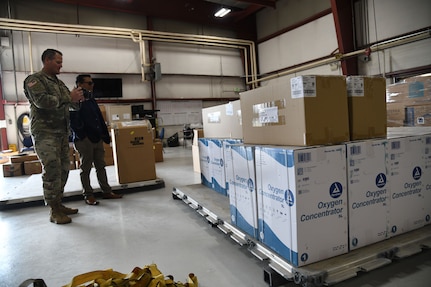
<instances>
[{"instance_id":1,"label":"soldier in camouflage uniform and tan boots, standing with hands raised","mask_svg":"<svg viewBox=\"0 0 431 287\"><path fill-rule=\"evenodd\" d=\"M25 95L30 102L30 131L43 172L43 195L51 207L50 221L72 222L68 216L78 209L65 207L61 201L69 176L69 109L77 109L84 100L81 88L70 91L57 78L63 64L60 51L47 49L42 54L43 68L24 81Z\"/></svg>"}]
</instances>

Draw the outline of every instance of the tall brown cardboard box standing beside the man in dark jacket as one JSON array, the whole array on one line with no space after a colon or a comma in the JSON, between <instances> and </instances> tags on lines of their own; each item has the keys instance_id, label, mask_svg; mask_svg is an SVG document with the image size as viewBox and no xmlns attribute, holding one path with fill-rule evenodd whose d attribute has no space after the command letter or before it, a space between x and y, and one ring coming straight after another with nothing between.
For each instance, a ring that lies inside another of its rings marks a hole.
<instances>
[{"instance_id":1,"label":"tall brown cardboard box standing beside the man in dark jacket","mask_svg":"<svg viewBox=\"0 0 431 287\"><path fill-rule=\"evenodd\" d=\"M111 134L118 183L156 179L151 124L146 120L119 122Z\"/></svg>"}]
</instances>

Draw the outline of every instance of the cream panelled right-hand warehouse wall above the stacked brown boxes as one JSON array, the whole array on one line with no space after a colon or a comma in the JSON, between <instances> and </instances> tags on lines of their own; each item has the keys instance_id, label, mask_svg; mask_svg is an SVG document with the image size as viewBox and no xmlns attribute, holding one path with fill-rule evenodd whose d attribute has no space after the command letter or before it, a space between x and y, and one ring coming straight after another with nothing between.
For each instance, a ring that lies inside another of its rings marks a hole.
<instances>
[{"instance_id":1,"label":"cream panelled right-hand warehouse wall above the stacked brown boxes","mask_svg":"<svg viewBox=\"0 0 431 287\"><path fill-rule=\"evenodd\" d=\"M319 5L312 5L312 3ZM258 14L258 37L264 39L331 8L330 1L279 0L276 9ZM362 0L354 2L357 49L431 27L431 1ZM428 30L429 31L429 30ZM400 45L370 57L358 57L359 74L386 75L431 65L431 39ZM260 73L270 73L329 56L338 49L333 15L322 16L258 45ZM342 74L340 65L322 66L297 74Z\"/></svg>"}]
</instances>

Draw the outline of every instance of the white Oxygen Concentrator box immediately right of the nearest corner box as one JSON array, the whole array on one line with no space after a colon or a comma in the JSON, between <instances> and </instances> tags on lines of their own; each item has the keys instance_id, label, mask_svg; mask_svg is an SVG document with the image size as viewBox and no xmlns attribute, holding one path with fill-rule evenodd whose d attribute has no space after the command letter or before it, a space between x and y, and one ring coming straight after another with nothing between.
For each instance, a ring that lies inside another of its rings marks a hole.
<instances>
[{"instance_id":1,"label":"white Oxygen Concentrator box immediately right of the nearest corner box","mask_svg":"<svg viewBox=\"0 0 431 287\"><path fill-rule=\"evenodd\" d=\"M346 144L349 250L389 237L390 188L386 169L387 144L386 139Z\"/></svg>"}]
</instances>

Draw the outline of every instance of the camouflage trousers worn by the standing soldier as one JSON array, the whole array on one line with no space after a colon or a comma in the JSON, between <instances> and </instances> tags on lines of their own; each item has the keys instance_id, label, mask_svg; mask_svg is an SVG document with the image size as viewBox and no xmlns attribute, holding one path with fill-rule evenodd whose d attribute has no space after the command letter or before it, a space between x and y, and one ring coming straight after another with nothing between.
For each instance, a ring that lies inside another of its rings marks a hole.
<instances>
[{"instance_id":1,"label":"camouflage trousers worn by the standing soldier","mask_svg":"<svg viewBox=\"0 0 431 287\"><path fill-rule=\"evenodd\" d=\"M43 196L46 204L61 201L69 176L69 137L61 134L33 135L34 149L42 164Z\"/></svg>"}]
</instances>

